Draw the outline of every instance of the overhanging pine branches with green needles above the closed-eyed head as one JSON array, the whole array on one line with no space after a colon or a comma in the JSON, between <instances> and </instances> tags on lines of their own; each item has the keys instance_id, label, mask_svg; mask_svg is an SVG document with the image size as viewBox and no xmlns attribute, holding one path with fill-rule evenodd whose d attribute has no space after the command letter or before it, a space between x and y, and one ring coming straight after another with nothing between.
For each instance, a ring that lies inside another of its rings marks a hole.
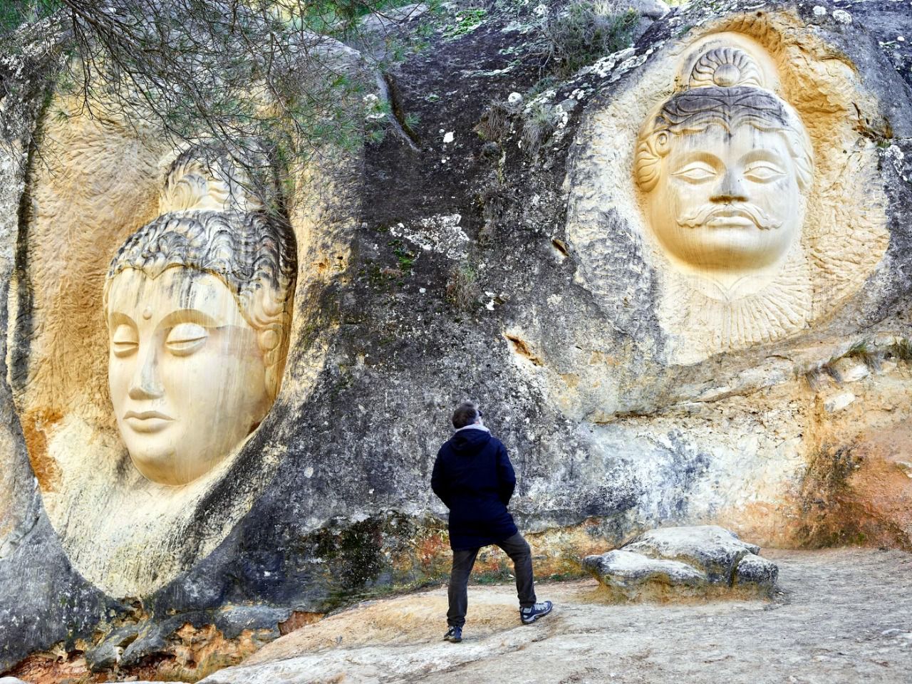
<instances>
[{"instance_id":1,"label":"overhanging pine branches with green needles above the closed-eyed head","mask_svg":"<svg viewBox=\"0 0 912 684\"><path fill-rule=\"evenodd\" d=\"M339 41L357 38L365 16L406 2L0 0L0 33L16 36L6 50L26 47L16 41L28 36L10 32L55 16L72 56L57 90L71 97L52 116L88 114L155 130L175 147L227 149L254 186L277 171L262 189L277 180L288 196L288 179L327 146L382 140L389 105L364 97L373 76ZM384 55L413 42L390 37ZM252 168L264 150L268 163Z\"/></svg>"}]
</instances>

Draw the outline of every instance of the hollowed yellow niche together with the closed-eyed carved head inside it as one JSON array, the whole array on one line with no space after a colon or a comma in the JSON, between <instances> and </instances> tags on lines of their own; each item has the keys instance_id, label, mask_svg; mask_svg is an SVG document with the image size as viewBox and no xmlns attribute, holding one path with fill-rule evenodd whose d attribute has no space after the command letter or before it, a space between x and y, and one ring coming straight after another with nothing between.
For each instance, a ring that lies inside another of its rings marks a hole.
<instances>
[{"instance_id":1,"label":"hollowed yellow niche together with the closed-eyed carved head inside it","mask_svg":"<svg viewBox=\"0 0 912 684\"><path fill-rule=\"evenodd\" d=\"M311 210L293 228L274 184L249 181L272 176L258 153L78 115L48 117L42 146L9 295L16 410L69 561L110 596L148 596L283 462L294 426L274 404L307 396L326 349L285 374Z\"/></svg>"}]
</instances>

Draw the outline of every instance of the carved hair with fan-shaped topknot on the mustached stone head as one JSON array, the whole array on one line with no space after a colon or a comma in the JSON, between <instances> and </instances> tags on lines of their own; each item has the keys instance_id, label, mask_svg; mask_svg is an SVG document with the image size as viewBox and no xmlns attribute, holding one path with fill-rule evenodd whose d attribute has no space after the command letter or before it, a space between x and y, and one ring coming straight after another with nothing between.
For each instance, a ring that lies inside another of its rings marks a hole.
<instances>
[{"instance_id":1,"label":"carved hair with fan-shaped topknot on the mustached stone head","mask_svg":"<svg viewBox=\"0 0 912 684\"><path fill-rule=\"evenodd\" d=\"M644 192L658 182L662 158L672 135L698 133L718 125L730 133L744 124L779 132L792 156L798 187L810 189L814 180L811 140L792 107L760 88L762 77L745 52L720 47L702 55L689 78L689 89L673 95L639 131L634 173Z\"/></svg>"}]
</instances>

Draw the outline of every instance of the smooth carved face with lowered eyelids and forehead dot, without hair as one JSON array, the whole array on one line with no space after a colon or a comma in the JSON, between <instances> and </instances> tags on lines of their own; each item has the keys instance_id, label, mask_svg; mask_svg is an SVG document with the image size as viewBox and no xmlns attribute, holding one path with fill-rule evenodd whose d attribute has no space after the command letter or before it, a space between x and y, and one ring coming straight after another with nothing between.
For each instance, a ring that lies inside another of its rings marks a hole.
<instances>
[{"instance_id":1,"label":"smooth carved face with lowered eyelids and forehead dot, without hair","mask_svg":"<svg viewBox=\"0 0 912 684\"><path fill-rule=\"evenodd\" d=\"M109 289L109 389L137 469L161 484L209 472L269 409L254 328L214 275L136 269Z\"/></svg>"}]
</instances>

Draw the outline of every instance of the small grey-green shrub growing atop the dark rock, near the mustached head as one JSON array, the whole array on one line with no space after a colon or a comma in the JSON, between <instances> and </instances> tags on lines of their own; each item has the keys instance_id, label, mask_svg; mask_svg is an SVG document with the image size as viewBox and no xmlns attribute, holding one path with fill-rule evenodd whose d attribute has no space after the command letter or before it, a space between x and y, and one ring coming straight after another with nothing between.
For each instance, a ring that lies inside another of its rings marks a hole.
<instances>
[{"instance_id":1,"label":"small grey-green shrub growing atop the dark rock, near the mustached head","mask_svg":"<svg viewBox=\"0 0 912 684\"><path fill-rule=\"evenodd\" d=\"M573 2L542 26L543 67L561 78L630 47L639 15L612 2Z\"/></svg>"}]
</instances>

